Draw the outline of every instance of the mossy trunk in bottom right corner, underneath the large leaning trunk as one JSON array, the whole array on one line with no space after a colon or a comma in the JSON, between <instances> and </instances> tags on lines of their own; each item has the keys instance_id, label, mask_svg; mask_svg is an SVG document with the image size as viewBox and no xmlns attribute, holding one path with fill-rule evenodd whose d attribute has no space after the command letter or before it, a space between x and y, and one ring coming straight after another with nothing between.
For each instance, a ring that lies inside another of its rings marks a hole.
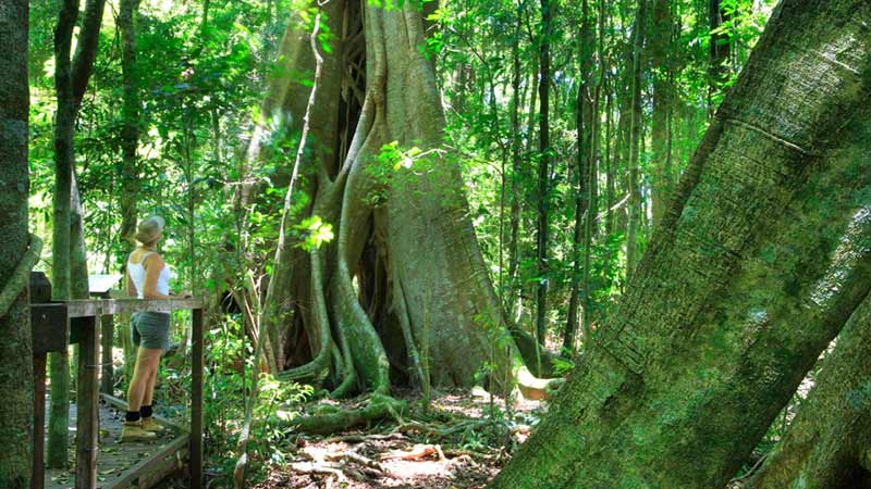
<instances>
[{"instance_id":1,"label":"mossy trunk in bottom right corner, underneath the large leaning trunk","mask_svg":"<svg viewBox=\"0 0 871 489\"><path fill-rule=\"evenodd\" d=\"M864 140L869 136L864 124ZM860 142L861 143L861 142ZM864 145L861 146L862 148ZM854 158L864 158L855 152ZM866 213L862 220L871 216ZM871 246L871 233L866 236ZM852 314L786 437L750 480L753 489L869 487L871 297Z\"/></svg>"}]
</instances>

